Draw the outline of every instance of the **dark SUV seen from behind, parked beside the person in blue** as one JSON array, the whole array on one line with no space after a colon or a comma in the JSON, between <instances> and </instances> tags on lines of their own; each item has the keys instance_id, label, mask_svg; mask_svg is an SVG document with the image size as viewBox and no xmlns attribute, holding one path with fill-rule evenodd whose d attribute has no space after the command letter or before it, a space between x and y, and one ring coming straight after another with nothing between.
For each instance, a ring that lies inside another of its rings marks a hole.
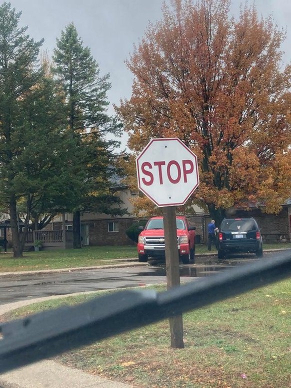
<instances>
[{"instance_id":1,"label":"dark SUV seen from behind, parked beside the person in blue","mask_svg":"<svg viewBox=\"0 0 291 388\"><path fill-rule=\"evenodd\" d=\"M252 252L262 256L262 239L254 218L224 218L217 236L218 259L225 253Z\"/></svg>"}]
</instances>

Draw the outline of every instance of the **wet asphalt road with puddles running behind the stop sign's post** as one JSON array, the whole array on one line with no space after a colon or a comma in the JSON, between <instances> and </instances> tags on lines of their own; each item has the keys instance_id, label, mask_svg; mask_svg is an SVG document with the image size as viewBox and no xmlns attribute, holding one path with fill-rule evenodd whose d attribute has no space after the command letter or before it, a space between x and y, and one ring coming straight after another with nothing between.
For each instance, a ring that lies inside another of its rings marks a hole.
<instances>
[{"instance_id":1,"label":"wet asphalt road with puddles running behind the stop sign's post","mask_svg":"<svg viewBox=\"0 0 291 388\"><path fill-rule=\"evenodd\" d=\"M209 276L217 271L255 260L240 256L216 264L213 257L204 257L198 264L180 265L180 281ZM113 288L135 287L164 283L165 265L151 262L151 265L115 267L106 269L74 270L60 273L17 275L0 279L0 304L12 303L42 296L63 295L75 292Z\"/></svg>"}]
</instances>

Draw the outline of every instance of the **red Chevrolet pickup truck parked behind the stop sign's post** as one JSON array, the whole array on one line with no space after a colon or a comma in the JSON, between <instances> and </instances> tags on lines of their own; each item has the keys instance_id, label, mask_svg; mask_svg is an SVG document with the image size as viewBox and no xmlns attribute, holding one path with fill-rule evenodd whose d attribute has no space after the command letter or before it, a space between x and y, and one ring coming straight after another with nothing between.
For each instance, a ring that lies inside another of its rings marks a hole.
<instances>
[{"instance_id":1,"label":"red Chevrolet pickup truck parked behind the stop sign's post","mask_svg":"<svg viewBox=\"0 0 291 388\"><path fill-rule=\"evenodd\" d=\"M194 262L195 257L195 226L190 226L184 216L176 216L177 244L179 258L183 264ZM145 227L139 226L137 253L138 261L147 261L148 257L164 258L163 217L151 217Z\"/></svg>"}]
</instances>

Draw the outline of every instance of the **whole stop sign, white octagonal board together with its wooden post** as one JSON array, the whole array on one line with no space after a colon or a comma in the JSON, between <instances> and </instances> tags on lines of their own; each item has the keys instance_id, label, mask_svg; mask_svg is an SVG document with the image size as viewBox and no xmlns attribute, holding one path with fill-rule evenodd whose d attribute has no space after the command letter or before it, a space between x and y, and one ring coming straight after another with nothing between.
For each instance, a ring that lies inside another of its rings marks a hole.
<instances>
[{"instance_id":1,"label":"whole stop sign, white octagonal board together with its wooden post","mask_svg":"<svg viewBox=\"0 0 291 388\"><path fill-rule=\"evenodd\" d=\"M176 205L199 184L196 155L176 137L151 139L136 158L138 188L163 207L167 288L180 285ZM169 318L171 347L182 348L182 315Z\"/></svg>"}]
</instances>

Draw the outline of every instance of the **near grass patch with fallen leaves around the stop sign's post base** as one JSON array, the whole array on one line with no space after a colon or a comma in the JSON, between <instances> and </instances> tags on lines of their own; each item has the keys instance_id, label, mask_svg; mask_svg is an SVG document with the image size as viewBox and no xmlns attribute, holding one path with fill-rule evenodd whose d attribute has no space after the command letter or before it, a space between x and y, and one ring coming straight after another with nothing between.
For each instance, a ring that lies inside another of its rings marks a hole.
<instances>
[{"instance_id":1,"label":"near grass patch with fallen leaves around the stop sign's post base","mask_svg":"<svg viewBox=\"0 0 291 388\"><path fill-rule=\"evenodd\" d=\"M183 349L170 348L164 320L56 359L147 388L287 388L291 386L290 296L291 281L284 280L183 314ZM90 297L37 303L9 317Z\"/></svg>"}]
</instances>

